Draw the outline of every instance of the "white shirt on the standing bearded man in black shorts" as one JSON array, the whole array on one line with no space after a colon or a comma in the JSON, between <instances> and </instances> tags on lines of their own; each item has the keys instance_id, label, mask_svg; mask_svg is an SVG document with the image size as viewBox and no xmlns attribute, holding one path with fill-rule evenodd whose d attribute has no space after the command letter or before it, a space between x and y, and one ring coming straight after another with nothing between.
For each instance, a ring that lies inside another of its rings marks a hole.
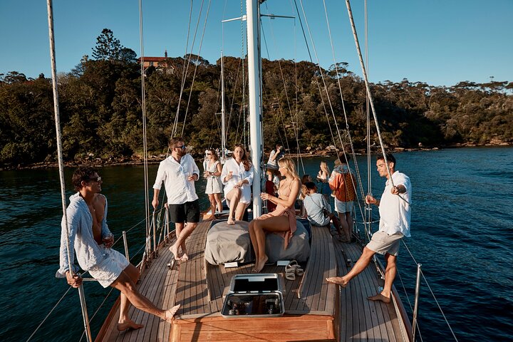
<instances>
[{"instance_id":1,"label":"white shirt on the standing bearded man in black shorts","mask_svg":"<svg viewBox=\"0 0 513 342\"><path fill-rule=\"evenodd\" d=\"M195 181L187 180L189 175L194 174L199 179L199 169L191 155L184 155L180 158L180 162L170 155L160 162L153 189L160 190L162 182L164 182L168 204L184 204L195 201L198 199Z\"/></svg>"}]
</instances>

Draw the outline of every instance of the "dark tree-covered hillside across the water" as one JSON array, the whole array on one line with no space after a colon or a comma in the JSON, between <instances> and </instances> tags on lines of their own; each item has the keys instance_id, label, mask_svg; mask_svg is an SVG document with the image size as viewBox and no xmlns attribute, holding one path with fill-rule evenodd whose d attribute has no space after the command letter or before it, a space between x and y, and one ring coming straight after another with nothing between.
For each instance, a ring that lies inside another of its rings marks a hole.
<instances>
[{"instance_id":1,"label":"dark tree-covered hillside across the water","mask_svg":"<svg viewBox=\"0 0 513 342\"><path fill-rule=\"evenodd\" d=\"M137 56L108 29L98 37L92 56L58 75L64 158L93 156L114 162L141 155ZM219 147L220 61L211 64L200 56L185 56L165 62L148 68L145 76L148 150L165 152L175 122L177 135L183 130L196 152ZM366 145L365 86L346 63L324 70L306 61L264 60L262 69L266 147L281 141L296 152L296 137L301 151L339 145L332 139L332 110L343 142L350 133L356 147ZM227 141L247 142L247 61L225 57L224 82ZM435 87L404 79L371 86L380 129L390 147L512 143L512 89L507 81ZM55 160L51 80L42 74L37 79L16 71L0 74L0 167Z\"/></svg>"}]
</instances>

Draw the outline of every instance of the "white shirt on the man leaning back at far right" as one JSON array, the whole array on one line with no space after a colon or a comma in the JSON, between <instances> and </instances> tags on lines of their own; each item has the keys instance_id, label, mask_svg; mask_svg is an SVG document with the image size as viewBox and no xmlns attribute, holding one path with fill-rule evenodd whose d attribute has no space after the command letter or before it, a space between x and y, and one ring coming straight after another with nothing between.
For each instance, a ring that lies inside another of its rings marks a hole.
<instances>
[{"instance_id":1,"label":"white shirt on the man leaning back at far right","mask_svg":"<svg viewBox=\"0 0 513 342\"><path fill-rule=\"evenodd\" d=\"M404 173L395 171L392 174L392 180L396 187L398 185L403 185L406 188L406 192L399 195L411 203L412 186L410 177ZM389 235L399 232L405 237L410 237L411 206L398 195L393 195L390 192L391 190L392 182L387 180L379 205L379 230Z\"/></svg>"}]
</instances>

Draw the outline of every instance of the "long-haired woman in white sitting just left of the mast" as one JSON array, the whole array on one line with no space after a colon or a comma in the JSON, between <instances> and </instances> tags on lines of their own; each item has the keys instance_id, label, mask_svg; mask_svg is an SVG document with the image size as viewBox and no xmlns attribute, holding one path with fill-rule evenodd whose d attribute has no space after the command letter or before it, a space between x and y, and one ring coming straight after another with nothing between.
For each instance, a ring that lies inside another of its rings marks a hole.
<instances>
[{"instance_id":1,"label":"long-haired woman in white sitting just left of the mast","mask_svg":"<svg viewBox=\"0 0 513 342\"><path fill-rule=\"evenodd\" d=\"M229 205L228 224L241 221L244 210L251 202L251 185L253 182L253 165L248 160L244 145L235 145L234 157L224 163L221 181L224 184L224 197Z\"/></svg>"}]
</instances>

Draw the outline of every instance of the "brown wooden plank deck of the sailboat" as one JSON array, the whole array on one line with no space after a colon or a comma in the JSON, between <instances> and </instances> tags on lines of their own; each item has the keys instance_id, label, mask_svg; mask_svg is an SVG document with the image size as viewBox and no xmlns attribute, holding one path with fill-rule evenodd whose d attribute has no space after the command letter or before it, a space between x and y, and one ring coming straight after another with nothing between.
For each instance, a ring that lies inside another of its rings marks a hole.
<instances>
[{"instance_id":1,"label":"brown wooden plank deck of the sailboat","mask_svg":"<svg viewBox=\"0 0 513 342\"><path fill-rule=\"evenodd\" d=\"M360 257L357 244L342 244L332 239L328 229L314 227L311 257L305 274L295 281L284 279L284 317L223 318L223 294L234 274L251 272L252 264L225 269L204 261L204 245L210 222L201 222L187 239L190 260L169 269L171 254L162 248L160 257L141 277L139 289L157 306L170 308L182 304L172 327L169 323L134 308L130 316L145 328L118 332L115 323L119 311L111 312L111 321L98 334L97 341L408 341L393 304L366 299L378 291L375 266L369 266L346 289L328 284L327 276L346 274L348 269L341 249L353 262ZM163 247L163 246L162 246ZM262 273L284 274L284 266L265 266ZM338 303L340 296L340 306ZM339 321L340 324L336 323ZM286 325L301 338L281 333ZM243 328L242 328L243 327Z\"/></svg>"}]
</instances>

